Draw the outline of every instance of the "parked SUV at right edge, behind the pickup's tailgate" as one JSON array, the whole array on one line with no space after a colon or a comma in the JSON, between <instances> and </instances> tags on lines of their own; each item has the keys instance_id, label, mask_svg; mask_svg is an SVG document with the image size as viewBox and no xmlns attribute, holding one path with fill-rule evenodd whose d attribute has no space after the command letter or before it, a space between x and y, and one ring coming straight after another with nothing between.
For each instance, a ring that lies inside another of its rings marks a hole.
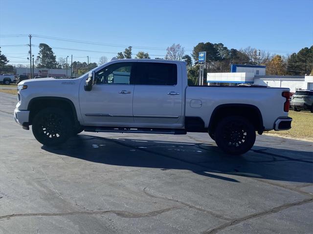
<instances>
[{"instance_id":1,"label":"parked SUV at right edge, behind the pickup's tailgate","mask_svg":"<svg viewBox=\"0 0 313 234\"><path fill-rule=\"evenodd\" d=\"M313 90L299 90L291 98L294 111L310 110L313 113Z\"/></svg>"}]
</instances>

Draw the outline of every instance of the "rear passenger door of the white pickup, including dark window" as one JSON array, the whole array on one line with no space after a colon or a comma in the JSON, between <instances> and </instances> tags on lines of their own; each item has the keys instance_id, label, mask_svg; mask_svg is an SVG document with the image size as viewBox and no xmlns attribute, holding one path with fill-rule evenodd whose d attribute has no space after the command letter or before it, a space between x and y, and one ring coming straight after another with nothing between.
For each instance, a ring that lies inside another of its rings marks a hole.
<instances>
[{"instance_id":1,"label":"rear passenger door of the white pickup, including dark window","mask_svg":"<svg viewBox=\"0 0 313 234\"><path fill-rule=\"evenodd\" d=\"M182 127L179 63L138 61L134 76L134 122L143 127Z\"/></svg>"}]
</instances>

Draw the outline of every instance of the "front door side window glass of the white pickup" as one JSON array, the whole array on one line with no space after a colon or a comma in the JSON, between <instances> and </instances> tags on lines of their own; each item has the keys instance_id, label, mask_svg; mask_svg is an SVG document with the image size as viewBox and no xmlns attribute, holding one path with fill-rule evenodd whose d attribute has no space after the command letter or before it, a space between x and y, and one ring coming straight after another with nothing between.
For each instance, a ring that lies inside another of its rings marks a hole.
<instances>
[{"instance_id":1,"label":"front door side window glass of the white pickup","mask_svg":"<svg viewBox=\"0 0 313 234\"><path fill-rule=\"evenodd\" d=\"M130 84L132 62L113 63L95 73L96 84Z\"/></svg>"}]
</instances>

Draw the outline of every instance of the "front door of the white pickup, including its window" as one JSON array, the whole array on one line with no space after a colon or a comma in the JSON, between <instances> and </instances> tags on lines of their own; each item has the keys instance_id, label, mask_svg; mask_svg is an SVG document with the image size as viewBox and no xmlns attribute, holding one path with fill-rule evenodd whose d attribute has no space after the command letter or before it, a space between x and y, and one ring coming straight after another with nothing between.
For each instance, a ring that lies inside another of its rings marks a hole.
<instances>
[{"instance_id":1,"label":"front door of the white pickup, including its window","mask_svg":"<svg viewBox=\"0 0 313 234\"><path fill-rule=\"evenodd\" d=\"M80 109L86 125L134 123L134 62L118 62L95 73L91 91L80 89Z\"/></svg>"}]
</instances>

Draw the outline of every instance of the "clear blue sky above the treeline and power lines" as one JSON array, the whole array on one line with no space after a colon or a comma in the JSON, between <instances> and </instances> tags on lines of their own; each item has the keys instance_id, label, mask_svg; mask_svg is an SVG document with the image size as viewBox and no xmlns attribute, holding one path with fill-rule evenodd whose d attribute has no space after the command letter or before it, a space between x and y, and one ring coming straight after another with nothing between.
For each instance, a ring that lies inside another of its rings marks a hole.
<instances>
[{"instance_id":1,"label":"clear blue sky above the treeline and power lines","mask_svg":"<svg viewBox=\"0 0 313 234\"><path fill-rule=\"evenodd\" d=\"M89 56L91 62L110 60L128 45L150 47L134 48L133 54L145 51L154 58L173 43L190 54L207 41L286 55L313 45L313 0L0 0L0 46L12 64L27 61L27 46L4 46L29 43L28 37L6 37L20 34L111 45L32 38L34 45L51 46L58 58ZM38 47L32 52L37 55Z\"/></svg>"}]
</instances>

